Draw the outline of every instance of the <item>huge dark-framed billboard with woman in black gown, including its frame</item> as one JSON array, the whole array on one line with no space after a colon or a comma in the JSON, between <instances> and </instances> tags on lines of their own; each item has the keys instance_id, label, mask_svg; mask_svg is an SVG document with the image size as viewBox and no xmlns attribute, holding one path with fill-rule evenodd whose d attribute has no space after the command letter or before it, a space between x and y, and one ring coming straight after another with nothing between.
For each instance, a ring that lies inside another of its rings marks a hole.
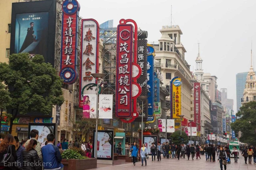
<instances>
[{"instance_id":1,"label":"huge dark-framed billboard with woman in black gown, including its frame","mask_svg":"<svg viewBox=\"0 0 256 170\"><path fill-rule=\"evenodd\" d=\"M12 3L10 53L43 55L54 66L56 1Z\"/></svg>"}]
</instances>

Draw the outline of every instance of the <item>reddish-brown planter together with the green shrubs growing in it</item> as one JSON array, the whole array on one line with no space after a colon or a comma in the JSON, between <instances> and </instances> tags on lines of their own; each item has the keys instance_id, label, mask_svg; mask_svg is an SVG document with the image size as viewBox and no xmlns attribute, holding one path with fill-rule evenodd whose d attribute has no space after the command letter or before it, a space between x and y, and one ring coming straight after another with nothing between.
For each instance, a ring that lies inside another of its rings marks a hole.
<instances>
[{"instance_id":1,"label":"reddish-brown planter together with the green shrubs growing in it","mask_svg":"<svg viewBox=\"0 0 256 170\"><path fill-rule=\"evenodd\" d=\"M68 149L61 154L64 170L84 170L97 168L96 158L87 158L80 148Z\"/></svg>"}]
</instances>

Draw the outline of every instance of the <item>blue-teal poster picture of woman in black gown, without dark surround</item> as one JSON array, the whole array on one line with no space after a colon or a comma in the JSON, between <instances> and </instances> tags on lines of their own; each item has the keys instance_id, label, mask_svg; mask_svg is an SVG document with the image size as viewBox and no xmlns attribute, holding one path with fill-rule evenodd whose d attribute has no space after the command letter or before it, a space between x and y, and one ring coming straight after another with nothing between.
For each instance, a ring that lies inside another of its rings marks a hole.
<instances>
[{"instance_id":1,"label":"blue-teal poster picture of woman in black gown, without dark surround","mask_svg":"<svg viewBox=\"0 0 256 170\"><path fill-rule=\"evenodd\" d=\"M16 14L14 53L43 55L47 50L48 12Z\"/></svg>"}]
</instances>

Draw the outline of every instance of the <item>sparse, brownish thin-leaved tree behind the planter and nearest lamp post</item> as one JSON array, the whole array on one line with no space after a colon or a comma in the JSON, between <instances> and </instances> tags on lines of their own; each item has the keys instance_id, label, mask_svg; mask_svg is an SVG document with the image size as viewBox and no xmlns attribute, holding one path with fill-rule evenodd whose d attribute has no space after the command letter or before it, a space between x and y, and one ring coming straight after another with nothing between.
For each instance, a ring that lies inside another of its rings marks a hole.
<instances>
[{"instance_id":1,"label":"sparse, brownish thin-leaved tree behind the planter and nearest lamp post","mask_svg":"<svg viewBox=\"0 0 256 170\"><path fill-rule=\"evenodd\" d=\"M96 119L83 118L83 113L80 110L76 114L70 114L68 120L61 122L61 129L73 135L79 142L84 141L86 135L95 129Z\"/></svg>"}]
</instances>

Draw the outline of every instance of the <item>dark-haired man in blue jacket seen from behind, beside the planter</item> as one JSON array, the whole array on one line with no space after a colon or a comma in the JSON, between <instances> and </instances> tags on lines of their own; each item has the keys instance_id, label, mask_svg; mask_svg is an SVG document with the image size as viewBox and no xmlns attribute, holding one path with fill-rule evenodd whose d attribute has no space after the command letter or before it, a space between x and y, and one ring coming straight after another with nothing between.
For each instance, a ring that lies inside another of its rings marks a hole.
<instances>
[{"instance_id":1,"label":"dark-haired man in blue jacket seen from behind, beside the planter","mask_svg":"<svg viewBox=\"0 0 256 170\"><path fill-rule=\"evenodd\" d=\"M48 144L42 147L43 155L43 169L44 170L63 170L63 164L61 164L61 152L59 148L54 146L55 141L54 134L47 135Z\"/></svg>"}]
</instances>

